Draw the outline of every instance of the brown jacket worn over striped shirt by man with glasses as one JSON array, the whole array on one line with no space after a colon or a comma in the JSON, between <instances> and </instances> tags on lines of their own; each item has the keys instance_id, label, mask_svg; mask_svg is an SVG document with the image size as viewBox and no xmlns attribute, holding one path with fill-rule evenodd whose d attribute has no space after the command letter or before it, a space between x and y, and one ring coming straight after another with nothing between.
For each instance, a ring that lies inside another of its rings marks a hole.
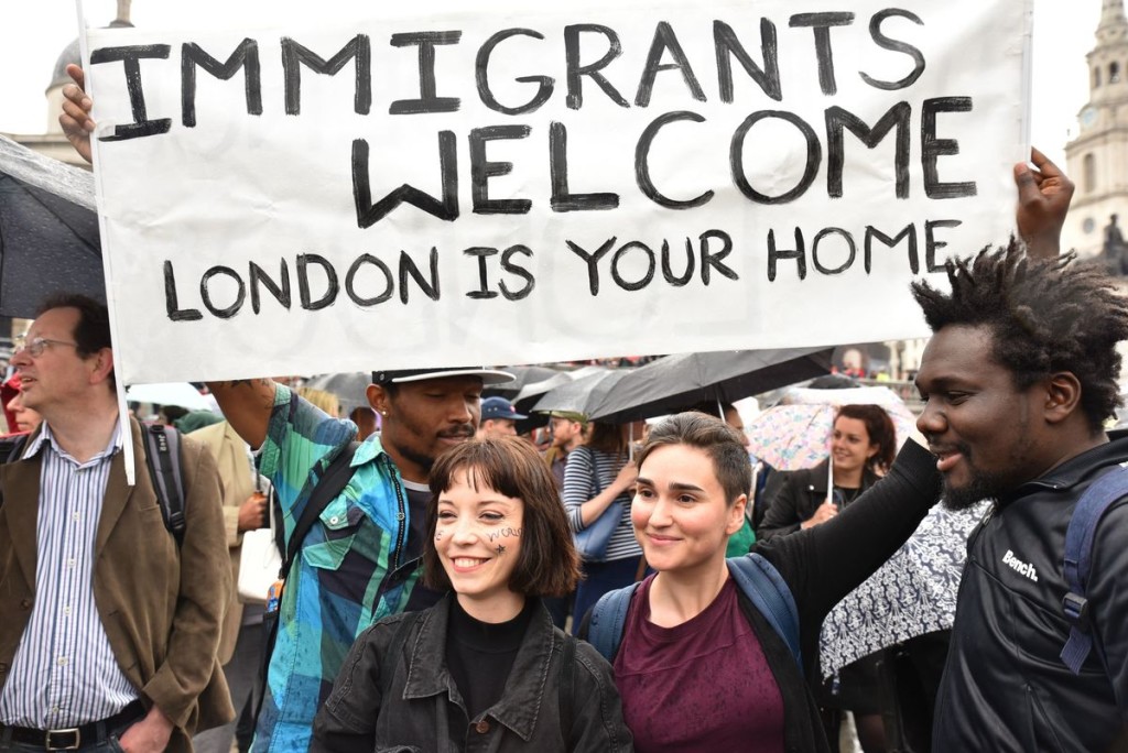
<instances>
[{"instance_id":1,"label":"brown jacket worn over striped shirt by man with glasses","mask_svg":"<svg viewBox=\"0 0 1128 753\"><path fill-rule=\"evenodd\" d=\"M149 478L141 427L133 419L130 427L136 485L126 485L117 453L95 540L94 600L117 663L146 706L173 721L168 750L179 753L192 750L192 734L235 717L215 655L231 590L220 484L206 450L184 441L178 546ZM41 467L42 451L0 466L0 688L35 600Z\"/></svg>"}]
</instances>

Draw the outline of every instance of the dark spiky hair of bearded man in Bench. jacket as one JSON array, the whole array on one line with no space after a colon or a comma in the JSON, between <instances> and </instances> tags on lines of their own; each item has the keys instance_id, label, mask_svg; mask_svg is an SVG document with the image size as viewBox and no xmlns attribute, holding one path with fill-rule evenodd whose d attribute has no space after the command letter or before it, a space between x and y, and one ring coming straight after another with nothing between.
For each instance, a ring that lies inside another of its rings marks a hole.
<instances>
[{"instance_id":1,"label":"dark spiky hair of bearded man in Bench. jacket","mask_svg":"<svg viewBox=\"0 0 1128 753\"><path fill-rule=\"evenodd\" d=\"M1128 338L1128 300L1101 268L1074 254L1034 259L1011 239L945 265L952 285L943 293L925 281L913 295L932 330L952 325L986 327L994 357L1025 389L1056 372L1081 382L1081 408L1094 432L1120 405L1116 346Z\"/></svg>"}]
</instances>

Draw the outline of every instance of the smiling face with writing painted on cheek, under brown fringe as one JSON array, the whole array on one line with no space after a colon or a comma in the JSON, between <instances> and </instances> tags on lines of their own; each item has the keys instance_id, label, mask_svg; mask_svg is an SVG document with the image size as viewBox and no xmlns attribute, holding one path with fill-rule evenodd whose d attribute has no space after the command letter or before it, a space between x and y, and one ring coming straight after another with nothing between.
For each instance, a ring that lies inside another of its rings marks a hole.
<instances>
[{"instance_id":1,"label":"smiling face with writing painted on cheek, under brown fringe","mask_svg":"<svg viewBox=\"0 0 1128 753\"><path fill-rule=\"evenodd\" d=\"M525 603L509 587L521 552L525 504L474 481L474 469L460 470L439 495L434 548L462 609L493 621L486 615Z\"/></svg>"}]
</instances>

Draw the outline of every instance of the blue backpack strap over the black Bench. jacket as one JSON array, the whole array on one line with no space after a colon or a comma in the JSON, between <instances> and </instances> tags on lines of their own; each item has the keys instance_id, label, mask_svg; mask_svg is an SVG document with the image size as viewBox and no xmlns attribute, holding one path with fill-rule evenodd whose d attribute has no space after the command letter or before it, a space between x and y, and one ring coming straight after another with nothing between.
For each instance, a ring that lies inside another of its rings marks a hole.
<instances>
[{"instance_id":1,"label":"blue backpack strap over the black Bench. jacket","mask_svg":"<svg viewBox=\"0 0 1128 753\"><path fill-rule=\"evenodd\" d=\"M1081 672L1089 652L1093 648L1093 626L1089 614L1085 587L1093 559L1093 539L1096 524L1112 503L1128 495L1128 468L1119 466L1101 476L1090 486L1073 511L1065 534L1065 579L1069 592L1061 600L1061 609L1069 621L1069 639L1061 648L1061 661L1074 674ZM1104 654L1098 645L1098 655Z\"/></svg>"}]
</instances>

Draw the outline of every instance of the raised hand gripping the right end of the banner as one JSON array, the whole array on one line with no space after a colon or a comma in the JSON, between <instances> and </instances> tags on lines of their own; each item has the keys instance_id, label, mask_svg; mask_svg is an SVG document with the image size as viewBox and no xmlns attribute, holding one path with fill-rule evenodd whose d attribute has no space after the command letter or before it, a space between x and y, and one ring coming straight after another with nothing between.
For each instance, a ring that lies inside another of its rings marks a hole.
<instances>
[{"instance_id":1,"label":"raised hand gripping the right end of the banner","mask_svg":"<svg viewBox=\"0 0 1128 753\"><path fill-rule=\"evenodd\" d=\"M1030 165L1014 166L1014 183L1019 187L1015 220L1019 234L1026 242L1030 256L1051 259L1061 243L1061 225L1073 200L1073 181L1057 165L1037 149L1030 150Z\"/></svg>"}]
</instances>

